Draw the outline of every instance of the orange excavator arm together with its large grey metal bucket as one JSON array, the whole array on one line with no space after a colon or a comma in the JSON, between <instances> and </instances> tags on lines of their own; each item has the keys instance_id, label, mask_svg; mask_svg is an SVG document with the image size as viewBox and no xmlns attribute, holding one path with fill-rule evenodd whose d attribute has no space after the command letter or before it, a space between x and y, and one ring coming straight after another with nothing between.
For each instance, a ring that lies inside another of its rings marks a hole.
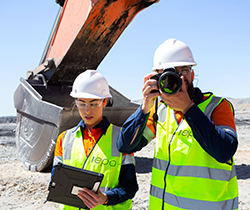
<instances>
[{"instance_id":1,"label":"orange excavator arm together with its large grey metal bucket","mask_svg":"<svg viewBox=\"0 0 250 210\"><path fill-rule=\"evenodd\" d=\"M70 91L86 69L97 69L135 15L156 0L66 0L59 10L40 65L14 93L16 139L24 168L52 166L58 135L81 120ZM121 126L138 108L110 87L104 115Z\"/></svg>"}]
</instances>

